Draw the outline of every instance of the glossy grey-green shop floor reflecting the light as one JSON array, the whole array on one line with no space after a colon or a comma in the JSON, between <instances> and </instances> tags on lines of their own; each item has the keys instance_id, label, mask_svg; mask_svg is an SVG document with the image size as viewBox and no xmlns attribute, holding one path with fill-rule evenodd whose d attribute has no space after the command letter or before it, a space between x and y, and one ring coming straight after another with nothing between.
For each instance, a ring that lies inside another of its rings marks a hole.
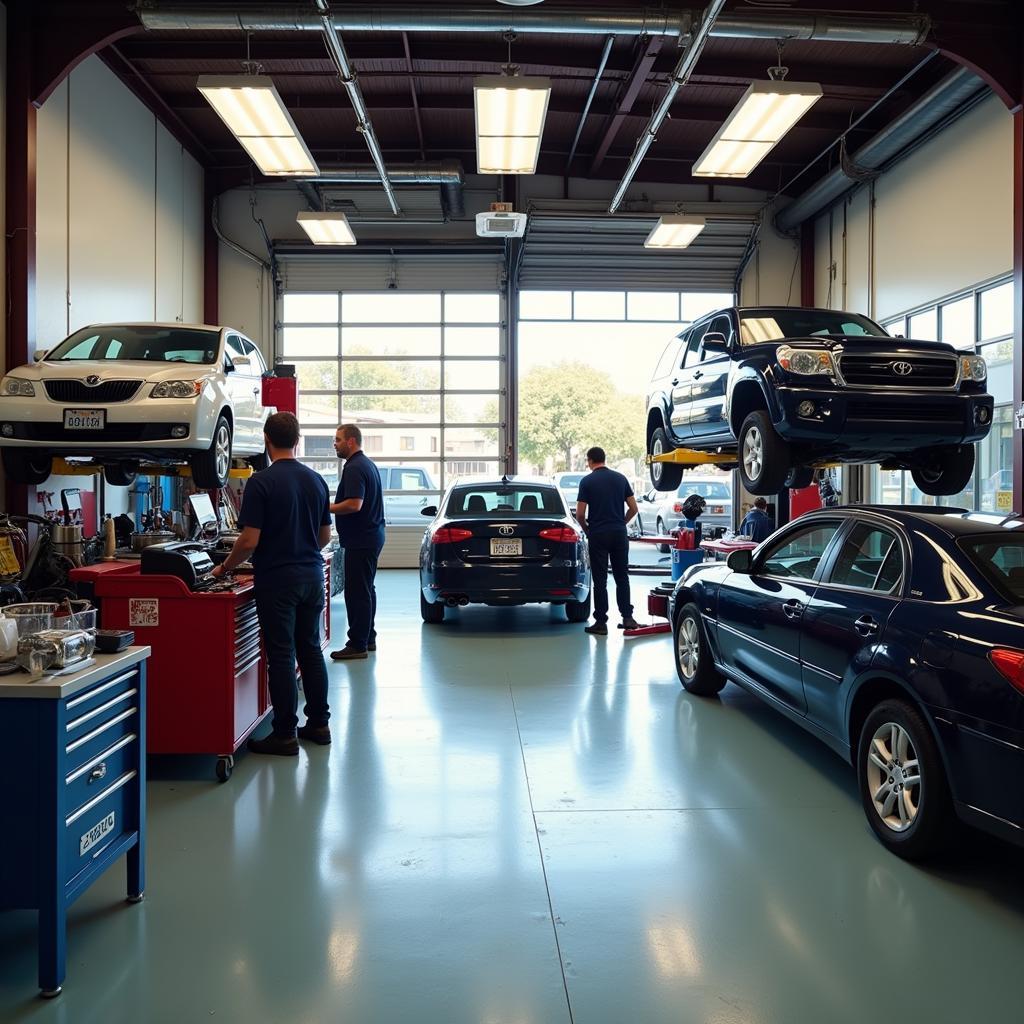
<instances>
[{"instance_id":1,"label":"glossy grey-green shop floor reflecting the light","mask_svg":"<svg viewBox=\"0 0 1024 1024\"><path fill-rule=\"evenodd\" d=\"M423 627L415 573L379 581L334 745L224 785L151 759L145 902L123 867L78 901L52 1002L35 914L0 913L0 1020L1021 1019L1019 851L887 854L851 770L734 686L685 694L668 637L546 607Z\"/></svg>"}]
</instances>

